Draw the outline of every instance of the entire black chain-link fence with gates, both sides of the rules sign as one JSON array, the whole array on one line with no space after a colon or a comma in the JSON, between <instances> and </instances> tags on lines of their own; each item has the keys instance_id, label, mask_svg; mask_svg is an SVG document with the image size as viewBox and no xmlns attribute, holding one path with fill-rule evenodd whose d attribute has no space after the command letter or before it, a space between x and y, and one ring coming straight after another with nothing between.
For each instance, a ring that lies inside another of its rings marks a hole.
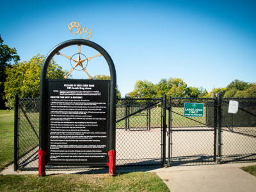
<instances>
[{"instance_id":1,"label":"entire black chain-link fence with gates, both sides of the rules sign","mask_svg":"<svg viewBox=\"0 0 256 192\"><path fill-rule=\"evenodd\" d=\"M229 100L239 102L236 114ZM204 115L184 116L185 103L204 104ZM38 169L38 132L39 99L16 97L16 170ZM256 99L117 100L116 166L234 161L256 161Z\"/></svg>"}]
</instances>

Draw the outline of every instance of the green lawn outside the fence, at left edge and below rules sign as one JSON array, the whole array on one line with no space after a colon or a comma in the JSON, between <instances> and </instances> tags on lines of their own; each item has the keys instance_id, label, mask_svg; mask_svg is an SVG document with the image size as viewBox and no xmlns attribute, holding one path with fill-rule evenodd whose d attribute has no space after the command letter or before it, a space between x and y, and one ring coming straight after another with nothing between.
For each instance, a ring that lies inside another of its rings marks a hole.
<instances>
[{"instance_id":1,"label":"green lawn outside the fence, at left edge and below rules sign","mask_svg":"<svg viewBox=\"0 0 256 192\"><path fill-rule=\"evenodd\" d=\"M13 161L13 111L0 110L0 170ZM84 175L0 175L0 191L169 191L156 173L110 177Z\"/></svg>"}]
</instances>

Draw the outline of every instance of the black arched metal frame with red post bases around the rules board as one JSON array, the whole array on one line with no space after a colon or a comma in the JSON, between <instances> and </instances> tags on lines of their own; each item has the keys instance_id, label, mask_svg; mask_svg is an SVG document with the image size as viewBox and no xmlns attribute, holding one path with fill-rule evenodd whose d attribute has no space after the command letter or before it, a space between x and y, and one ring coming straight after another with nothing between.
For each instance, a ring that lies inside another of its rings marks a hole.
<instances>
[{"instance_id":1,"label":"black arched metal frame with red post bases around the rules board","mask_svg":"<svg viewBox=\"0 0 256 192\"><path fill-rule=\"evenodd\" d=\"M48 125L48 108L49 104L48 102L48 87L47 87L47 68L49 67L49 63L51 62L52 58L54 55L57 54L61 49L64 49L65 47L68 47L70 45L86 45L88 47L92 47L96 51L99 51L100 54L105 58L105 60L108 63L109 66L109 71L110 71L110 88L109 88L109 114L108 114L108 124L109 124L109 129L108 129L108 150L109 150L109 156L115 156L115 140L116 140L116 135L115 135L115 129L116 129L116 123L115 123L115 118L116 118L116 71L115 71L115 65L109 56L108 52L105 51L100 45L95 44L94 42L91 42L89 40L83 40L83 39L74 39L74 40L68 40L66 42L62 42L61 44L57 45L52 49L51 52L47 55L45 58L44 64L42 66L41 70L41 76L40 76L40 142L39 142L39 147L40 150L38 152L39 155L39 164L40 161L42 161L42 166L40 170L39 167L39 175L45 175L45 162L49 161L49 139L48 139L48 134L49 134L49 125ZM93 81L93 80L88 80L88 81ZM112 157L113 158L113 157ZM110 157L109 157L110 159ZM115 158L114 158L115 160ZM68 164L68 163L67 163ZM74 163L72 163L74 164ZM83 163L86 164L86 163ZM89 163L89 164L95 164L99 165L102 163ZM106 163L102 164L106 166ZM115 164L114 164L115 166ZM110 169L110 166L109 166ZM112 168L113 169L113 168ZM110 174L110 173L109 173Z\"/></svg>"}]
</instances>

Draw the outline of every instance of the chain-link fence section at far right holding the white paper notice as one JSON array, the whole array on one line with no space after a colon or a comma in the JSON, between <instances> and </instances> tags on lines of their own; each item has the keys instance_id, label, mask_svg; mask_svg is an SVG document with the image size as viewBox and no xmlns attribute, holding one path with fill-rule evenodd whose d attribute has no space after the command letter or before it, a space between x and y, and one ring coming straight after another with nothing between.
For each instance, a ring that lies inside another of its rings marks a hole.
<instances>
[{"instance_id":1,"label":"chain-link fence section at far right holding the white paper notice","mask_svg":"<svg viewBox=\"0 0 256 192\"><path fill-rule=\"evenodd\" d=\"M228 113L230 100L239 102L237 113ZM256 160L256 99L221 99L221 161Z\"/></svg>"}]
</instances>

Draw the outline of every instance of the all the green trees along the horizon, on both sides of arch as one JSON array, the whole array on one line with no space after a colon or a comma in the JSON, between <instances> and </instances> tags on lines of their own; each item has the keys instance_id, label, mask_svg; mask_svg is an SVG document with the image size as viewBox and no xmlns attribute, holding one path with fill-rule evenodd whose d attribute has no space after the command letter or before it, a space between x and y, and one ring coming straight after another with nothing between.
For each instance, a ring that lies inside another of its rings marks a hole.
<instances>
[{"instance_id":1,"label":"all the green trees along the horizon, on both sides of arch","mask_svg":"<svg viewBox=\"0 0 256 192\"><path fill-rule=\"evenodd\" d=\"M14 94L19 97L40 96L40 71L45 56L37 54L29 61L20 60L14 48L3 44L0 35L0 108L12 109L14 106ZM54 60L49 63L47 78L63 79L67 71L63 70ZM109 76L97 75L93 79L110 79ZM117 89L117 97L121 97ZM215 97L221 93L222 97L256 97L256 84L234 80L226 88L214 88L207 92L204 88L188 86L182 79L170 77L161 79L159 83L153 84L147 80L138 80L134 84L134 90L127 93L127 98L161 98L163 94L171 97Z\"/></svg>"}]
</instances>

